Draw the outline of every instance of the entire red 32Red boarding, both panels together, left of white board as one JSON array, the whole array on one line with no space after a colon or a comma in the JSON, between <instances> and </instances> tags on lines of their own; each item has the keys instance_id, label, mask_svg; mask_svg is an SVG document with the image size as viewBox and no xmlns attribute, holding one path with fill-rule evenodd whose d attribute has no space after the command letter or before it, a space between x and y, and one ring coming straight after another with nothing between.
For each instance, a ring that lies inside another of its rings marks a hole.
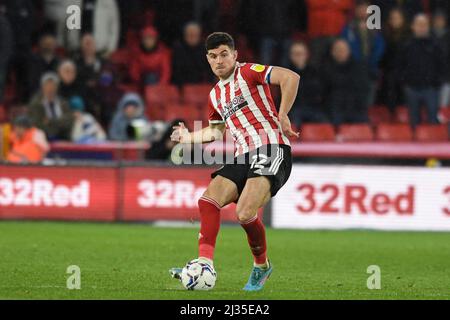
<instances>
[{"instance_id":1,"label":"entire red 32Red boarding, both panels together, left of white board","mask_svg":"<svg viewBox=\"0 0 450 320\"><path fill-rule=\"evenodd\" d=\"M212 168L0 165L0 219L199 220ZM236 205L221 210L237 222ZM260 210L259 214L262 214Z\"/></svg>"}]
</instances>

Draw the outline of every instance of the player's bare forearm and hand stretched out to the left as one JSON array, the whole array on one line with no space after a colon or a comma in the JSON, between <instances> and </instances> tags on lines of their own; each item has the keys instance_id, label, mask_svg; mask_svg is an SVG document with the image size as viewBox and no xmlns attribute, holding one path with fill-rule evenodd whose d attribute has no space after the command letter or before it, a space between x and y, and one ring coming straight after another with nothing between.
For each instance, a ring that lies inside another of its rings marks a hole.
<instances>
[{"instance_id":1,"label":"player's bare forearm and hand stretched out to the left","mask_svg":"<svg viewBox=\"0 0 450 320\"><path fill-rule=\"evenodd\" d=\"M209 143L216 140L222 140L225 132L225 123L210 123L208 127L202 130L189 132L184 126L183 122L180 122L178 126L173 127L172 135L170 139L180 143Z\"/></svg>"}]
</instances>

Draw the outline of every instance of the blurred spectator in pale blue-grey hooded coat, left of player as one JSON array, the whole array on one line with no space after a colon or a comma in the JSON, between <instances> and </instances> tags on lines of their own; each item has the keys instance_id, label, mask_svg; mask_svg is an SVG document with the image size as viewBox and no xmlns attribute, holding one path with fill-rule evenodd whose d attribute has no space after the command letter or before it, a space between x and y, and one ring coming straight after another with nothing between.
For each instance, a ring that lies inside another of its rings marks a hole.
<instances>
[{"instance_id":1,"label":"blurred spectator in pale blue-grey hooded coat, left of player","mask_svg":"<svg viewBox=\"0 0 450 320\"><path fill-rule=\"evenodd\" d=\"M109 138L117 141L140 140L146 135L149 121L144 115L144 102L135 93L120 100L109 127Z\"/></svg>"}]
</instances>

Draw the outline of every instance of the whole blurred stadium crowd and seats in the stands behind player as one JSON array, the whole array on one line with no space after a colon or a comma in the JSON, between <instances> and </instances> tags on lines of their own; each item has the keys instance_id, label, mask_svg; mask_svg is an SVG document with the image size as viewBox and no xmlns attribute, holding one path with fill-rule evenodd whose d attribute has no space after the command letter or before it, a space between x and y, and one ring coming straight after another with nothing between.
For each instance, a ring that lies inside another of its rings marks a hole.
<instances>
[{"instance_id":1,"label":"whole blurred stadium crowd and seats in the stands behind player","mask_svg":"<svg viewBox=\"0 0 450 320\"><path fill-rule=\"evenodd\" d=\"M66 27L72 4L81 30ZM371 4L381 8L379 30L366 24ZM235 36L240 62L301 75L296 127L370 123L374 106L389 119L407 109L413 129L446 122L449 8L439 0L0 0L0 121L14 128L8 159L43 157L46 140L150 139L158 150L168 135L153 124L205 119L216 80L203 39L217 30Z\"/></svg>"}]
</instances>

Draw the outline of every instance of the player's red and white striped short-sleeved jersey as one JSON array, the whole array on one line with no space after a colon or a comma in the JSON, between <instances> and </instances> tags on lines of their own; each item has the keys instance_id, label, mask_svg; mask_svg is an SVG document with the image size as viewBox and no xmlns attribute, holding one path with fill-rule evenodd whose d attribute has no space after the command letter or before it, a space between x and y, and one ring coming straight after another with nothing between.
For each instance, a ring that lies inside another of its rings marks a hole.
<instances>
[{"instance_id":1,"label":"player's red and white striped short-sleeved jersey","mask_svg":"<svg viewBox=\"0 0 450 320\"><path fill-rule=\"evenodd\" d=\"M290 145L270 94L271 71L271 66L236 63L230 77L220 80L209 94L209 122L226 123L235 156L266 144Z\"/></svg>"}]
</instances>

